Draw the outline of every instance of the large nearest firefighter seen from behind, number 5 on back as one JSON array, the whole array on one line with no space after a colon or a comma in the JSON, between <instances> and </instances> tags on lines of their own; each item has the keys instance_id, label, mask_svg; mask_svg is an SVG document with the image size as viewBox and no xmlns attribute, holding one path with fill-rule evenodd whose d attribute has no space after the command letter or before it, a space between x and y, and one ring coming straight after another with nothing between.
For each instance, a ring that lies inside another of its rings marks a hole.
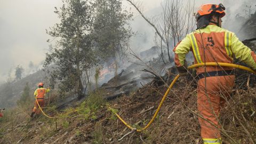
<instances>
[{"instance_id":1,"label":"large nearest firefighter seen from behind, number 5 on back","mask_svg":"<svg viewBox=\"0 0 256 144\"><path fill-rule=\"evenodd\" d=\"M236 35L221 28L225 16L222 4L204 4L196 14L197 30L188 34L174 47L174 61L180 76L187 75L185 55L191 50L194 63L233 63L234 57L256 70L256 55ZM235 84L234 68L207 66L196 68L197 109L204 143L221 143L220 108Z\"/></svg>"}]
</instances>

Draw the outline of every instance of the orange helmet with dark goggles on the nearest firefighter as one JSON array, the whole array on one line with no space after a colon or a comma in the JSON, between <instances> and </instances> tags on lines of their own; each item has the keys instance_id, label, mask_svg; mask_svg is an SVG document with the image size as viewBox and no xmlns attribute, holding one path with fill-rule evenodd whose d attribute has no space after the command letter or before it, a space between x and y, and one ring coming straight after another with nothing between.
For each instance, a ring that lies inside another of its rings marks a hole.
<instances>
[{"instance_id":1,"label":"orange helmet with dark goggles on the nearest firefighter","mask_svg":"<svg viewBox=\"0 0 256 144\"><path fill-rule=\"evenodd\" d=\"M203 15L207 15L207 14L216 14L219 13L220 14L220 18L225 16L225 6L223 4L204 4L201 5L199 10L197 11L196 14L196 20L198 20L201 16Z\"/></svg>"}]
</instances>

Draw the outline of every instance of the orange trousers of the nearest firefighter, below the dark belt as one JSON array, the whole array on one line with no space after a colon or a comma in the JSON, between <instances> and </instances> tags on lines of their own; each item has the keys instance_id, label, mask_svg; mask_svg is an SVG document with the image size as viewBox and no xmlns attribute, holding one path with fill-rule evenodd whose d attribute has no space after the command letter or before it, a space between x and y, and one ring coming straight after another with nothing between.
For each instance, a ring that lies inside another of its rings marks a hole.
<instances>
[{"instance_id":1,"label":"orange trousers of the nearest firefighter, below the dark belt","mask_svg":"<svg viewBox=\"0 0 256 144\"><path fill-rule=\"evenodd\" d=\"M235 85L235 76L212 76L201 78L197 88L197 109L201 125L201 137L204 139L221 138L219 123L220 108L230 97ZM205 87L206 85L206 87Z\"/></svg>"}]
</instances>

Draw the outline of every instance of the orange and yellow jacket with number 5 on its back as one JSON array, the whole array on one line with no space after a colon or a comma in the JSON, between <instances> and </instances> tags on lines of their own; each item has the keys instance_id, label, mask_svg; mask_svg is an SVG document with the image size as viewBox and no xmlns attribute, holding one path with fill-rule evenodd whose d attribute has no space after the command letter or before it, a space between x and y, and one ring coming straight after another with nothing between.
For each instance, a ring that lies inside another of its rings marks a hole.
<instances>
[{"instance_id":1,"label":"orange and yellow jacket with number 5 on its back","mask_svg":"<svg viewBox=\"0 0 256 144\"><path fill-rule=\"evenodd\" d=\"M236 35L226 29L209 25L188 34L177 46L174 47L175 64L183 66L185 55L192 51L194 63L225 62L233 63L233 58L245 62L256 70L256 55L249 47L245 46ZM205 57L204 57L205 55ZM206 71L231 70L228 67L206 67ZM197 73L203 73L204 68L197 68Z\"/></svg>"}]
</instances>

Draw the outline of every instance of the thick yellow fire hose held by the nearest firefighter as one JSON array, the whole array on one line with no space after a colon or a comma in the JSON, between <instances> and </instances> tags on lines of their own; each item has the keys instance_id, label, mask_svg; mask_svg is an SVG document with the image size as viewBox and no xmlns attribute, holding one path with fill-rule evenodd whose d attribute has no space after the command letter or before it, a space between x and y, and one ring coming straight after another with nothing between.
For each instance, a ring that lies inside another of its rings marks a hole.
<instances>
[{"instance_id":1,"label":"thick yellow fire hose held by the nearest firefighter","mask_svg":"<svg viewBox=\"0 0 256 144\"><path fill-rule=\"evenodd\" d=\"M222 66L222 67L233 67L233 68L238 68L238 69L243 69L243 70L247 70L253 74L256 74L256 71L250 69L250 68L247 68L247 67L244 67L244 66L240 66L240 65L235 65L235 64L232 64L232 63L222 63L222 62L206 62L206 63L198 63L198 64L195 64L195 65L191 65L188 67L188 69L193 69L193 68L197 68L197 67L202 67L202 66ZM132 127L131 125L127 124L117 113L115 114L119 119L120 121L122 121L127 127L129 127L131 130L136 130L137 132L141 132L143 130L146 130L154 121L154 119L156 118L160 108L162 107L163 105L163 102L165 100L165 98L167 97L167 95L169 94L170 90L172 89L172 86L175 84L175 82L178 80L178 78L180 77L180 75L177 75L171 85L168 87L167 91L165 92L164 94L164 97L162 98L161 102L159 103L159 106L154 114L154 116L151 118L150 122L145 126L143 127L142 129L139 129L137 130L135 127Z\"/></svg>"}]
</instances>

